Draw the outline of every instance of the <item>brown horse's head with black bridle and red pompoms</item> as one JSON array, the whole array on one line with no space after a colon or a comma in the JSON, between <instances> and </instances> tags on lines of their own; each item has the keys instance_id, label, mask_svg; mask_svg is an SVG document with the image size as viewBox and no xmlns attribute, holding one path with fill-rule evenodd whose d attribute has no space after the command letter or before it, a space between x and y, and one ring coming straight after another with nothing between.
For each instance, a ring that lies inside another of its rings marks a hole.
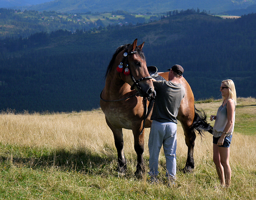
<instances>
[{"instance_id":1,"label":"brown horse's head with black bridle and red pompoms","mask_svg":"<svg viewBox=\"0 0 256 200\"><path fill-rule=\"evenodd\" d=\"M124 49L117 55L114 68L119 77L136 89L140 96L150 97L154 92L152 77L147 69L146 58L142 51L144 42L137 46L137 39L131 45L124 46Z\"/></svg>"}]
</instances>

